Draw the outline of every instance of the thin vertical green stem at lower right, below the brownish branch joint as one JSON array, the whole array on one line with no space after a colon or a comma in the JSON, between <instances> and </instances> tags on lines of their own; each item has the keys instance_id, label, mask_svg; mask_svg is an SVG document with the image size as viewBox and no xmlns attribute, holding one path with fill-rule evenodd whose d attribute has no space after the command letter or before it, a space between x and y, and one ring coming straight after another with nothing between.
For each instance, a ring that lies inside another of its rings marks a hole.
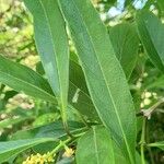
<instances>
[{"instance_id":1,"label":"thin vertical green stem at lower right, below the brownish branch joint","mask_svg":"<svg viewBox=\"0 0 164 164\"><path fill-rule=\"evenodd\" d=\"M142 124L141 141L140 141L141 164L145 164L145 160L144 160L145 126L147 126L147 118L144 117L144 118L143 118L143 124Z\"/></svg>"}]
</instances>

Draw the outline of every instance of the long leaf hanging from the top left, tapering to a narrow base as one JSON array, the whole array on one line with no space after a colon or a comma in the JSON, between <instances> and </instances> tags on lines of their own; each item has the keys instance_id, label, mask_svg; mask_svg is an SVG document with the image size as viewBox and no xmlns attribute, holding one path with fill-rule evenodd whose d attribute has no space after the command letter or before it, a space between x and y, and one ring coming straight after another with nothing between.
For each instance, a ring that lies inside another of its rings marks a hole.
<instances>
[{"instance_id":1,"label":"long leaf hanging from the top left, tapering to a narrow base","mask_svg":"<svg viewBox=\"0 0 164 164\"><path fill-rule=\"evenodd\" d=\"M69 48L63 17L57 0L24 0L24 2L34 16L36 47L46 75L57 96L62 115L66 115L69 85Z\"/></svg>"}]
</instances>

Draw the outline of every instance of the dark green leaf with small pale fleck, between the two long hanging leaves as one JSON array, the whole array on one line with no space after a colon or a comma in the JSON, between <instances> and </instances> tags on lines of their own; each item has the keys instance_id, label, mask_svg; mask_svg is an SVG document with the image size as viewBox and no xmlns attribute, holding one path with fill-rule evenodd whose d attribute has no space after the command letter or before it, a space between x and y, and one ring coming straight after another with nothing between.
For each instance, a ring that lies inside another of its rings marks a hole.
<instances>
[{"instance_id":1,"label":"dark green leaf with small pale fleck, between the two long hanging leaves","mask_svg":"<svg viewBox=\"0 0 164 164\"><path fill-rule=\"evenodd\" d=\"M69 104L92 120L99 120L86 87L81 67L70 60Z\"/></svg>"}]
</instances>

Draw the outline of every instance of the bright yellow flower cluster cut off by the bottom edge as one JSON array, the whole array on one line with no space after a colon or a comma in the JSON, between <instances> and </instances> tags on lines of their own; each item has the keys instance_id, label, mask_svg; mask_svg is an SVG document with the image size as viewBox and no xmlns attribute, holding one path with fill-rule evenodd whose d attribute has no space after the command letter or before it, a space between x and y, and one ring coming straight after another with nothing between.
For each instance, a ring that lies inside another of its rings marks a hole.
<instances>
[{"instance_id":1,"label":"bright yellow flower cluster cut off by the bottom edge","mask_svg":"<svg viewBox=\"0 0 164 164\"><path fill-rule=\"evenodd\" d=\"M22 164L48 164L54 162L54 156L48 152L47 154L39 154L31 155L24 161Z\"/></svg>"}]
</instances>

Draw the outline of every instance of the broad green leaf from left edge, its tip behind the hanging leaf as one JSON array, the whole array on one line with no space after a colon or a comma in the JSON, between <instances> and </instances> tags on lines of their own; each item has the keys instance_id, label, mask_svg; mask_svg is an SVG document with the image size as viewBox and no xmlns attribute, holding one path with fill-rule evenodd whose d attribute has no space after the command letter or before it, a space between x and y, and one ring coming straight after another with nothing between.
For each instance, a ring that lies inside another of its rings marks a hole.
<instances>
[{"instance_id":1,"label":"broad green leaf from left edge, its tip behind the hanging leaf","mask_svg":"<svg viewBox=\"0 0 164 164\"><path fill-rule=\"evenodd\" d=\"M0 56L0 82L17 92L57 103L48 82L32 69Z\"/></svg>"}]
</instances>

